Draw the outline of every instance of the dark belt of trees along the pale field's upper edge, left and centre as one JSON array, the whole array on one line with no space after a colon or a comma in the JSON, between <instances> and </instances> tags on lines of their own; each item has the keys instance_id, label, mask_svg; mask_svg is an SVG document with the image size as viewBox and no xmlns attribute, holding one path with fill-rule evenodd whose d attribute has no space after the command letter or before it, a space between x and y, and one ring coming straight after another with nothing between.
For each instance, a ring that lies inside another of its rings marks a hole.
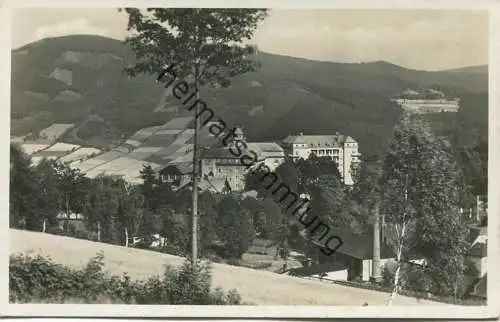
<instances>
[{"instance_id":1,"label":"dark belt of trees along the pale field's upper edge, left and centre","mask_svg":"<svg viewBox=\"0 0 500 322\"><path fill-rule=\"evenodd\" d=\"M69 235L116 245L149 248L154 235L166 237L159 250L189 256L191 200L189 188L174 192L153 169L141 170L143 183L130 185L122 178L85 177L69 166L42 160L36 166L18 146L11 146L10 227ZM229 194L216 200L200 193L198 244L200 254L241 258L256 237L256 230L273 238L279 209L270 200L242 200ZM264 208L261 209L261 206ZM274 207L274 208L273 208ZM273 212L267 212L272 209ZM82 216L79 224L70 214ZM270 217L271 216L271 217ZM216 246L216 247L214 247Z\"/></svg>"}]
</instances>

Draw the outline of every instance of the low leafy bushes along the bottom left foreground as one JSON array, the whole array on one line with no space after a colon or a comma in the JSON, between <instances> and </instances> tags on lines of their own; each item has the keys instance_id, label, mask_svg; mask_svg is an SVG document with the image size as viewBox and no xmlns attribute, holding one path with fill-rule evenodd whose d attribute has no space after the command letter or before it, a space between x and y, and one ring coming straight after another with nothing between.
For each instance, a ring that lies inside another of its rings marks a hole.
<instances>
[{"instance_id":1,"label":"low leafy bushes along the bottom left foreground","mask_svg":"<svg viewBox=\"0 0 500 322\"><path fill-rule=\"evenodd\" d=\"M115 303L237 305L235 290L211 289L209 264L186 262L179 269L168 266L162 277L133 281L103 272L104 256L98 254L81 270L55 264L50 258L10 256L9 300L14 303Z\"/></svg>"}]
</instances>

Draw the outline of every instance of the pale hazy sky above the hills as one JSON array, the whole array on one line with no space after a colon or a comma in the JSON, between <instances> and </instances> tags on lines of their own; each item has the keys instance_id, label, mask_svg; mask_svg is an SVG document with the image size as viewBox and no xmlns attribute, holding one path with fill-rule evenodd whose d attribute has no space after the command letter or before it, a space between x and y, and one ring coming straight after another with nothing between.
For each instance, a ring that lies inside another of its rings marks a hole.
<instances>
[{"instance_id":1,"label":"pale hazy sky above the hills","mask_svg":"<svg viewBox=\"0 0 500 322\"><path fill-rule=\"evenodd\" d=\"M111 8L22 8L12 47L71 34L123 40L127 16ZM384 60L418 70L488 63L488 15L472 10L271 10L253 43L261 51L334 62Z\"/></svg>"}]
</instances>

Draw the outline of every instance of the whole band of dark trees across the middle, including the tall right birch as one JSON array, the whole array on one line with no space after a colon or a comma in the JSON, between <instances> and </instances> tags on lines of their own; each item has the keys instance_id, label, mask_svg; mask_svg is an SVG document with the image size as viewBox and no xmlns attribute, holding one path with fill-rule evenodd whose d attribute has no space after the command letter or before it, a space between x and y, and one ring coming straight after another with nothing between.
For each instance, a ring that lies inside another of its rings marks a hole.
<instances>
[{"instance_id":1,"label":"whole band of dark trees across the middle, including the tall right birch","mask_svg":"<svg viewBox=\"0 0 500 322\"><path fill-rule=\"evenodd\" d=\"M87 178L56 161L31 166L19 147L11 146L10 226L72 235L128 246L132 237L148 247L152 236L166 237L163 251L189 257L191 200L189 188L174 191L146 166L143 183L130 185L121 178ZM469 270L466 255L468 218L459 211L471 199L466 174L456 152L436 137L419 117L405 117L395 128L384 158L364 162L356 183L347 187L335 162L311 155L286 160L275 171L291 191L310 199L311 215L331 227L353 233L371 232L376 215L396 254L392 283L459 295ZM316 245L301 235L300 226L286 215L282 203L260 178L248 173L246 191L199 195L197 225L200 256L241 258L256 238L279 245L287 260L291 249L316 262L326 260ZM58 214L80 213L79 229ZM424 266L407 264L425 259ZM417 278L418 276L418 278Z\"/></svg>"}]
</instances>

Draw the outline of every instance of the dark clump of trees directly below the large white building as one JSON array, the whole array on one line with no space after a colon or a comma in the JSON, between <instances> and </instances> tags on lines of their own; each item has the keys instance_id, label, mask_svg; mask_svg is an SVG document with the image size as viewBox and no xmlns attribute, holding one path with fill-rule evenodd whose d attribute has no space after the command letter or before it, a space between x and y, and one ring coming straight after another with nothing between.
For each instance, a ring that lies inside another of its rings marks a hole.
<instances>
[{"instance_id":1,"label":"dark clump of trees directly below the large white building","mask_svg":"<svg viewBox=\"0 0 500 322\"><path fill-rule=\"evenodd\" d=\"M260 203L261 207L273 205L274 209L268 210L267 216L272 218L273 226L277 228L273 240L281 244L282 257L286 260L289 249L293 247L319 261L322 256L318 246L304 239L304 225L289 214L288 203L280 200L283 194L274 193L277 184L269 187L269 179L262 180L265 174L258 168L255 172L249 172L246 189L257 191L256 203ZM366 214L352 211L353 190L344 185L338 166L331 158L311 154L307 160L288 159L276 168L275 174L279 178L276 182L283 183L290 192L309 199L309 216L317 217L329 227L362 231L362 217Z\"/></svg>"}]
</instances>

